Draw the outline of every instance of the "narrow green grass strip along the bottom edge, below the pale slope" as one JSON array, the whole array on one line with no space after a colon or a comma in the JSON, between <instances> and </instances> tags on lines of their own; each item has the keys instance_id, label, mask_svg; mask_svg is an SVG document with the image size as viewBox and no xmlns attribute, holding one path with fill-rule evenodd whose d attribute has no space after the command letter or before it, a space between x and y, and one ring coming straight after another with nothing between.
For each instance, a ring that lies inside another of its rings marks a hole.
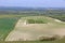
<instances>
[{"instance_id":1,"label":"narrow green grass strip along the bottom edge, below the pale slope","mask_svg":"<svg viewBox=\"0 0 65 43\"><path fill-rule=\"evenodd\" d=\"M65 38L56 41L0 41L0 43L65 43Z\"/></svg>"}]
</instances>

